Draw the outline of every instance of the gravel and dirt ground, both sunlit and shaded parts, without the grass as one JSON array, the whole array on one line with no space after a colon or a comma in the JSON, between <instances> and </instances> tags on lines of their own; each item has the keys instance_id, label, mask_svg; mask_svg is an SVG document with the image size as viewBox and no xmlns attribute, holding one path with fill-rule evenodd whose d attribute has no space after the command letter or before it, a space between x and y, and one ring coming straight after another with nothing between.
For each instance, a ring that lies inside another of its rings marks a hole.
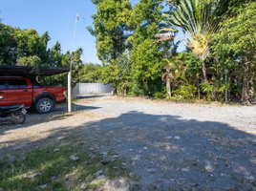
<instances>
[{"instance_id":1,"label":"gravel and dirt ground, both sunlit and shaded parts, without the grass","mask_svg":"<svg viewBox=\"0 0 256 191\"><path fill-rule=\"evenodd\" d=\"M256 107L83 97L72 115L0 126L0 159L74 138L115 151L138 190L256 190ZM64 107L64 106L61 106Z\"/></svg>"}]
</instances>

